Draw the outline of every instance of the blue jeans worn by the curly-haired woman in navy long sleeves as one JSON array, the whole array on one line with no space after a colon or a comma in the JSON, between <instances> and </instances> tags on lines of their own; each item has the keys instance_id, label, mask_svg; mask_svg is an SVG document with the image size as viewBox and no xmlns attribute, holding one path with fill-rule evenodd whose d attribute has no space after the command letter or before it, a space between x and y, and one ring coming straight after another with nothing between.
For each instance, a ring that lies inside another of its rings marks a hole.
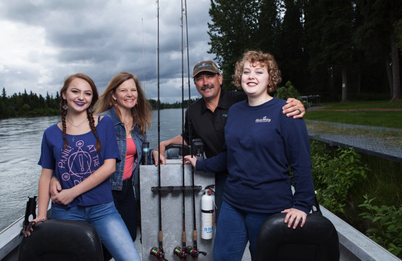
<instances>
[{"instance_id":1,"label":"blue jeans worn by the curly-haired woman in navy long sleeves","mask_svg":"<svg viewBox=\"0 0 402 261\"><path fill-rule=\"evenodd\" d=\"M215 235L214 260L241 260L248 241L254 260L261 225L272 214L241 210L224 201Z\"/></svg>"}]
</instances>

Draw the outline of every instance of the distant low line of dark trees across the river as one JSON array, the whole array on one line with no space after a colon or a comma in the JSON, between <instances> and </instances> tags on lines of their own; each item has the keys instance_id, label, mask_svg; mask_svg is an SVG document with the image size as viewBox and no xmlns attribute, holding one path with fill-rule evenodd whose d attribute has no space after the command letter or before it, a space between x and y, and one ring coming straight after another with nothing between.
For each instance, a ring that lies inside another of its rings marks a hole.
<instances>
[{"instance_id":1,"label":"distant low line of dark trees across the river","mask_svg":"<svg viewBox=\"0 0 402 261\"><path fill-rule=\"evenodd\" d=\"M195 99L191 99L194 102ZM157 109L157 100L149 99L152 109ZM181 108L182 102L175 103L160 102L160 109ZM184 108L188 107L188 100L183 101ZM0 98L0 119L12 117L36 117L36 116L53 116L60 115L60 94L56 95L46 93L46 96L39 96L32 91L23 93L14 93L7 96L6 89L3 88L2 97Z\"/></svg>"}]
</instances>

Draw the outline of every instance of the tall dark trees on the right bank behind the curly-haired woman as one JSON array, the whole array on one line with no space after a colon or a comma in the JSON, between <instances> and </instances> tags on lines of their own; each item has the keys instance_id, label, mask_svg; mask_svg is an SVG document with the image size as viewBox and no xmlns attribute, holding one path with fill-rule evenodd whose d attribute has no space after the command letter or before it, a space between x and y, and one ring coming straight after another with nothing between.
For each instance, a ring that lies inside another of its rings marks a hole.
<instances>
[{"instance_id":1,"label":"tall dark trees on the right bank behind the curly-haired woman","mask_svg":"<svg viewBox=\"0 0 402 261\"><path fill-rule=\"evenodd\" d=\"M400 0L211 0L209 14L209 53L226 89L244 51L261 50L302 95L401 98Z\"/></svg>"}]
</instances>

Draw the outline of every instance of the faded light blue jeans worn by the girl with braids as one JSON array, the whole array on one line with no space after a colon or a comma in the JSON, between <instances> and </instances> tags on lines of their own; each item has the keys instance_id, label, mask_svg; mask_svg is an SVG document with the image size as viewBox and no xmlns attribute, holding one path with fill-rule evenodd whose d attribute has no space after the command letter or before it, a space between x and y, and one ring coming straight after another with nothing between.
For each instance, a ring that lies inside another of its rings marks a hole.
<instances>
[{"instance_id":1,"label":"faded light blue jeans worn by the girl with braids","mask_svg":"<svg viewBox=\"0 0 402 261\"><path fill-rule=\"evenodd\" d=\"M141 260L130 233L113 202L68 209L52 206L50 216L52 219L79 220L93 225L99 234L100 241L116 261Z\"/></svg>"}]
</instances>

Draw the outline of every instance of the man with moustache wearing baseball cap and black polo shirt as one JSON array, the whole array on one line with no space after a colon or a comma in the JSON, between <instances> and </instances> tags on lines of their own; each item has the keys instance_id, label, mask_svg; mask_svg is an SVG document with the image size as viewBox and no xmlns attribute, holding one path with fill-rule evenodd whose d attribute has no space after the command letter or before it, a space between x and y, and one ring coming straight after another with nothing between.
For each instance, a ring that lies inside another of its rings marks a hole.
<instances>
[{"instance_id":1,"label":"man with moustache wearing baseball cap and black polo shirt","mask_svg":"<svg viewBox=\"0 0 402 261\"><path fill-rule=\"evenodd\" d=\"M195 87L202 99L191 103L191 138L201 139L204 142L204 151L207 158L222 152L225 143L224 128L229 108L236 102L247 99L244 92L225 91L221 88L222 74L213 61L200 61L194 65L192 72ZM287 104L282 108L286 116L300 118L306 113L302 102L294 98L288 98ZM159 144L159 152L163 154L166 146L170 144L189 145L188 109L185 112L184 133ZM166 163L165 158L161 164ZM217 206L216 219L222 205L222 195L228 173L216 173L215 175L215 204ZM217 221L216 220L216 221Z\"/></svg>"}]
</instances>

